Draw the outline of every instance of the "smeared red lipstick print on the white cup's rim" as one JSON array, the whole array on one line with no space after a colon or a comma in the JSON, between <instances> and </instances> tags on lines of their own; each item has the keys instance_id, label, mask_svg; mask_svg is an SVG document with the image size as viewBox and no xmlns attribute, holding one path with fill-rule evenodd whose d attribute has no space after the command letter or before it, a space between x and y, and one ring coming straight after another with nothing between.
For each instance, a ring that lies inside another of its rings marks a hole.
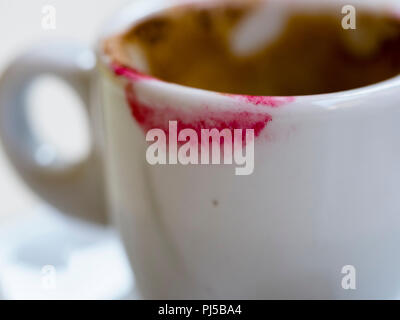
<instances>
[{"instance_id":1,"label":"smeared red lipstick print on the white cup's rim","mask_svg":"<svg viewBox=\"0 0 400 320\"><path fill-rule=\"evenodd\" d=\"M213 111L208 107L193 112L167 105L164 107L152 107L139 101L135 93L134 83L143 80L160 80L117 63L113 63L111 67L117 76L130 80L125 86L126 99L132 116L145 133L151 129L162 129L168 135L169 121L177 121L178 135L184 129L195 130L199 137L202 129L217 129L218 131L228 129L231 130L232 134L235 129L253 129L254 136L258 137L268 123L272 121L271 115L265 112ZM295 100L294 97L223 95L238 101L251 103L254 106L273 108L281 107Z\"/></svg>"}]
</instances>

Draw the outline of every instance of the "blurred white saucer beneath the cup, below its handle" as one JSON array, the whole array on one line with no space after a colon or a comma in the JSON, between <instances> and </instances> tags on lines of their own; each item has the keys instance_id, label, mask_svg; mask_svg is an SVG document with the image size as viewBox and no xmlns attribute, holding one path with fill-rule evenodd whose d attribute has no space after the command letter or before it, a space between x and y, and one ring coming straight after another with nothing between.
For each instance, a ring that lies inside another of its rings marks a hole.
<instances>
[{"instance_id":1,"label":"blurred white saucer beneath the cup, below its handle","mask_svg":"<svg viewBox=\"0 0 400 320\"><path fill-rule=\"evenodd\" d=\"M0 225L3 299L136 299L118 235L40 206Z\"/></svg>"}]
</instances>

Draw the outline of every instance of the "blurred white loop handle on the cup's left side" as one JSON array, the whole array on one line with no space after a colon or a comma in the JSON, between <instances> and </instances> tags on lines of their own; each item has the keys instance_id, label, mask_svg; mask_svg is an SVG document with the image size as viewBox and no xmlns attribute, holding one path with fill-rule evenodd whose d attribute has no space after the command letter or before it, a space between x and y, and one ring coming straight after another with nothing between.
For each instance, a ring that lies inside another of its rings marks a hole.
<instances>
[{"instance_id":1,"label":"blurred white loop handle on the cup's left side","mask_svg":"<svg viewBox=\"0 0 400 320\"><path fill-rule=\"evenodd\" d=\"M55 154L52 161L43 163L38 155L46 150L29 126L24 101L27 88L36 77L52 74L77 92L90 113L90 78L94 67L92 51L68 42L42 44L17 58L0 79L0 138L17 172L40 198L64 213L105 223L103 171L93 119L92 146L86 159L68 163Z\"/></svg>"}]
</instances>

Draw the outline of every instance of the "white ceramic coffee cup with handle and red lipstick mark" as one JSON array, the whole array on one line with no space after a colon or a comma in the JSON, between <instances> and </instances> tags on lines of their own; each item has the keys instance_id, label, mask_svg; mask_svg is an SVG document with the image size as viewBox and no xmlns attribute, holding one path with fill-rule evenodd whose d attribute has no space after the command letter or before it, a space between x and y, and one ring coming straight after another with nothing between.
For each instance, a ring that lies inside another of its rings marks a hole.
<instances>
[{"instance_id":1,"label":"white ceramic coffee cup with handle and red lipstick mark","mask_svg":"<svg viewBox=\"0 0 400 320\"><path fill-rule=\"evenodd\" d=\"M134 3L102 38L176 3ZM382 2L360 5L367 4ZM254 98L116 75L101 49L93 73L78 63L87 54L57 43L17 59L0 83L1 136L22 177L61 210L104 221L107 194L144 298L397 297L400 77L344 92ZM101 110L102 125L94 132L106 143L82 163L35 162L40 144L30 139L19 98L43 72L69 81L85 101L90 78L100 83L102 104L93 112ZM148 164L127 87L154 112L169 106L204 121L205 108L217 117L270 117L255 139L254 173Z\"/></svg>"}]
</instances>

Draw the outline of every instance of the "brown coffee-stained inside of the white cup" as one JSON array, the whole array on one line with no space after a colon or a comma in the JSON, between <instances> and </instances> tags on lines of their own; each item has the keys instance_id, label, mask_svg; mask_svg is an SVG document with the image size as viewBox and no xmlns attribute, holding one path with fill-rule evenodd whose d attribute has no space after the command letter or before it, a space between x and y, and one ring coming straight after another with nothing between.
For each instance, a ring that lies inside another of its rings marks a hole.
<instances>
[{"instance_id":1,"label":"brown coffee-stained inside of the white cup","mask_svg":"<svg viewBox=\"0 0 400 320\"><path fill-rule=\"evenodd\" d=\"M272 40L235 52L235 33L257 10L255 4L175 8L108 39L105 51L114 62L164 81L233 94L329 93L400 74L394 16L357 10L353 30L343 28L340 10L290 11Z\"/></svg>"}]
</instances>

